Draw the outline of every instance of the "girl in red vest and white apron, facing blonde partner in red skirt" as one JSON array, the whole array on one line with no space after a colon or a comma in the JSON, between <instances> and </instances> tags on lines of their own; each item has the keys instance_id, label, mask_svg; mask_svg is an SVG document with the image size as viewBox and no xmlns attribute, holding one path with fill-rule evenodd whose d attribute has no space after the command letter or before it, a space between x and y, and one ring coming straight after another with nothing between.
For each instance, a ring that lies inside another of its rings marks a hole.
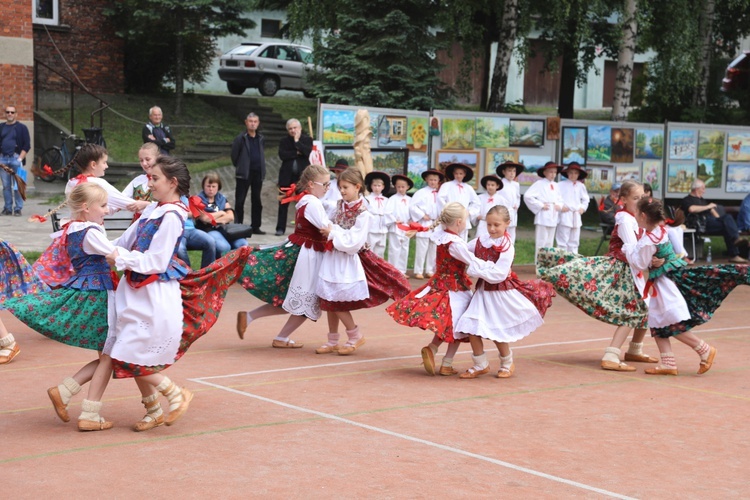
<instances>
[{"instance_id":1,"label":"girl in red vest and white apron, facing blonde partner in red skirt","mask_svg":"<svg viewBox=\"0 0 750 500\"><path fill-rule=\"evenodd\" d=\"M526 337L544 323L544 314L555 295L549 283L523 282L512 271L515 249L507 234L509 210L502 205L490 208L486 222L487 234L469 242L469 250L494 266L478 273L476 291L456 326L457 339L470 334L474 360L474 366L459 375L462 379L477 378L489 371L482 339L492 340L497 346L500 354L497 377L513 375L515 364L509 343Z\"/></svg>"}]
</instances>

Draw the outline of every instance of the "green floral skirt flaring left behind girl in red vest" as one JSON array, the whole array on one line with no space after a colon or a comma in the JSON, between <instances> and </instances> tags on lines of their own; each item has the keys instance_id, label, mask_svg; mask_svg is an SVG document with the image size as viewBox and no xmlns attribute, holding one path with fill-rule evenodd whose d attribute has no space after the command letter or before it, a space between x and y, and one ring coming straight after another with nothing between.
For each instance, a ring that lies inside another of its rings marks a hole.
<instances>
[{"instance_id":1,"label":"green floral skirt flaring left behind girl in red vest","mask_svg":"<svg viewBox=\"0 0 750 500\"><path fill-rule=\"evenodd\" d=\"M299 252L297 245L253 249L242 270L240 284L263 302L281 306L289 291Z\"/></svg>"}]
</instances>

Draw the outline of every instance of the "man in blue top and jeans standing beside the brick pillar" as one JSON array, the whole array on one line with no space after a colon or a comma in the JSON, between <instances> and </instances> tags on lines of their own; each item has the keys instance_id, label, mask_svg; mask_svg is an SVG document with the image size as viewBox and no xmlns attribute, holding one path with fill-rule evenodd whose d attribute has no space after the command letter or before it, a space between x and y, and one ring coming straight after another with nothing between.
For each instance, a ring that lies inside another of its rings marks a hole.
<instances>
[{"instance_id":1,"label":"man in blue top and jeans standing beside the brick pillar","mask_svg":"<svg viewBox=\"0 0 750 500\"><path fill-rule=\"evenodd\" d=\"M15 106L5 106L5 123L0 124L0 163L4 163L18 173L21 165L26 164L26 155L31 149L31 136L29 129L18 121L18 112ZM3 182L3 205L2 215L21 215L23 198L21 193L13 193L13 175L0 169L0 179ZM15 208L13 201L15 199Z\"/></svg>"}]
</instances>

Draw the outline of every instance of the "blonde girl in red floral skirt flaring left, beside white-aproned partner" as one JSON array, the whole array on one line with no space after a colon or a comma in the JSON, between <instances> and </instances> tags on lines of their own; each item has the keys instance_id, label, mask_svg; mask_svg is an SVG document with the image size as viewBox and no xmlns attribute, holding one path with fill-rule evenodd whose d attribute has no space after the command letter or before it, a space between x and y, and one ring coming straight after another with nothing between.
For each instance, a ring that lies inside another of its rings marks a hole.
<instances>
[{"instance_id":1,"label":"blonde girl in red floral skirt flaring left, beside white-aproned partner","mask_svg":"<svg viewBox=\"0 0 750 500\"><path fill-rule=\"evenodd\" d=\"M386 311L397 323L431 330L434 336L422 348L424 368L435 375L435 354L443 342L448 343L440 375L455 375L453 356L459 340L454 337L456 323L471 300L471 280L467 265L477 262L466 242L459 236L466 229L468 214L458 202L448 203L433 227L437 244L437 269L427 283L388 306ZM439 227L438 227L439 226ZM467 340L467 339L464 339Z\"/></svg>"}]
</instances>

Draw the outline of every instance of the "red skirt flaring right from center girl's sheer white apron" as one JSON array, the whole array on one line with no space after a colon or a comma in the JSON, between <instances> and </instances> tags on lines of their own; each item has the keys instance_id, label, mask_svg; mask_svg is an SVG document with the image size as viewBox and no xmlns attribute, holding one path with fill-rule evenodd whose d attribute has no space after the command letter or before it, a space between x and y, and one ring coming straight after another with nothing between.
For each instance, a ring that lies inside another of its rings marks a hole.
<instances>
[{"instance_id":1,"label":"red skirt flaring right from center girl's sheer white apron","mask_svg":"<svg viewBox=\"0 0 750 500\"><path fill-rule=\"evenodd\" d=\"M388 300L399 300L411 292L409 280L385 260L371 250L359 252L359 260L365 270L367 289L370 296L366 299L341 302L320 299L320 308L324 311L355 311L385 304Z\"/></svg>"}]
</instances>

